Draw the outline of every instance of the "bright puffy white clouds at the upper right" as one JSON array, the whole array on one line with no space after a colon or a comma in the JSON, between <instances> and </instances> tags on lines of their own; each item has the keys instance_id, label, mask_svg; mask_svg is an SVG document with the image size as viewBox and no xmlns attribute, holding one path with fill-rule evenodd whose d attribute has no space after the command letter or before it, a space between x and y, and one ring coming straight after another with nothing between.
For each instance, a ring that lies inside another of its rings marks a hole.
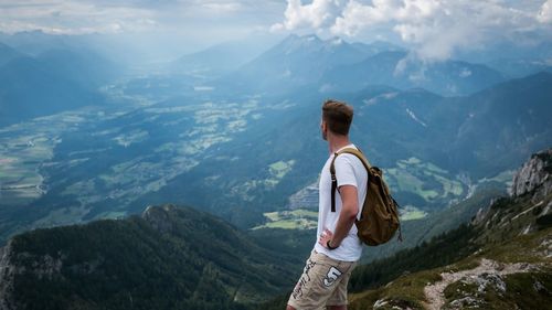
<instances>
[{"instance_id":1,"label":"bright puffy white clouds at the upper right","mask_svg":"<svg viewBox=\"0 0 552 310\"><path fill-rule=\"evenodd\" d=\"M339 2L339 6L336 4ZM499 40L521 41L527 33L551 32L552 0L545 3L507 0L288 0L285 21L275 30L309 26L350 38L388 29L418 57L446 60ZM332 4L332 6L330 6ZM546 38L549 35L543 35Z\"/></svg>"}]
</instances>

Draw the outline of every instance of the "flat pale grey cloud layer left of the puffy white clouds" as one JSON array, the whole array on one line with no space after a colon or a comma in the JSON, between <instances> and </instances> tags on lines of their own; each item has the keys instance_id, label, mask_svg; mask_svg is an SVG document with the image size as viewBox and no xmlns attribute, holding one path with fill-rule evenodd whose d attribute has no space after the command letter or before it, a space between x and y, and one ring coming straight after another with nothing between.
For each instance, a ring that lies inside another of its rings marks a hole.
<instances>
[{"instance_id":1,"label":"flat pale grey cloud layer left of the puffy white clouds","mask_svg":"<svg viewBox=\"0 0 552 310\"><path fill-rule=\"evenodd\" d=\"M224 32L279 19L276 0L0 0L0 31L46 33Z\"/></svg>"}]
</instances>

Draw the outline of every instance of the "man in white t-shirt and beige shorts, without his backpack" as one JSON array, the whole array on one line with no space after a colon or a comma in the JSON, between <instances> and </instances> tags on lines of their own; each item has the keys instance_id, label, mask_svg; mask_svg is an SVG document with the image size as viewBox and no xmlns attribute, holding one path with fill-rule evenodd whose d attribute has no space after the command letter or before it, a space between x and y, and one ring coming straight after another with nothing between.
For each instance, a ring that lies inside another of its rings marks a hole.
<instances>
[{"instance_id":1,"label":"man in white t-shirt and beige shorts, without his backpack","mask_svg":"<svg viewBox=\"0 0 552 310\"><path fill-rule=\"evenodd\" d=\"M346 103L327 100L322 105L320 130L330 156L320 175L317 242L289 297L287 310L347 309L347 285L362 254L354 221L364 203L368 172L353 154L338 156L335 161L338 193L336 212L331 212L330 164L338 151L355 148L349 140L352 117L352 107Z\"/></svg>"}]
</instances>

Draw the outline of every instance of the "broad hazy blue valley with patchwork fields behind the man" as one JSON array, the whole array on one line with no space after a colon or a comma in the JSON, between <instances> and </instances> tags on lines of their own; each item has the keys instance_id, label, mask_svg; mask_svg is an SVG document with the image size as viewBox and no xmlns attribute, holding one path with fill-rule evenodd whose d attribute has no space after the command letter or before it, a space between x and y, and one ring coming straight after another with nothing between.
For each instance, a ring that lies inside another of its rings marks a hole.
<instances>
[{"instance_id":1,"label":"broad hazy blue valley with patchwork fields behind the man","mask_svg":"<svg viewBox=\"0 0 552 310\"><path fill-rule=\"evenodd\" d=\"M132 88L130 94L125 89L120 82L104 87L114 101L107 107L64 111L1 129L3 238L32 227L120 218L171 201L216 210L243 228L312 227L314 217L293 211L317 209L312 182L325 157L317 137L319 94L237 96L184 89L173 96L174 89L164 84ZM167 99L147 99L155 94ZM475 163L470 171L459 165L463 159L456 162L449 154L470 146L437 150L428 145L455 135L454 128L442 130L440 115L457 109L455 100L469 97L389 94L375 88L346 98L368 103L359 108L353 139L361 148L370 146L370 160L384 169L403 221L459 203L487 183L506 188L512 158L484 174ZM545 108L540 100L534 103L535 108ZM436 105L438 115L427 114ZM386 111L374 118L383 107ZM396 138L388 140L389 132ZM418 133L411 137L414 132ZM418 147L411 147L413 140ZM22 215L20 207L33 212ZM287 213L286 220L263 215L275 212Z\"/></svg>"}]
</instances>

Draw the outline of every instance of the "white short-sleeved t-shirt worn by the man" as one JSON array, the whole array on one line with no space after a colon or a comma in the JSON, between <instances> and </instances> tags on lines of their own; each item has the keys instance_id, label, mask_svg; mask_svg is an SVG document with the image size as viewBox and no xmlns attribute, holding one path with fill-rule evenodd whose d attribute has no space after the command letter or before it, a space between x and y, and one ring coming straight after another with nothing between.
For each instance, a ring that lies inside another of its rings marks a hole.
<instances>
[{"instance_id":1,"label":"white short-sleeved t-shirt worn by the man","mask_svg":"<svg viewBox=\"0 0 552 310\"><path fill-rule=\"evenodd\" d=\"M349 145L346 148L357 148L354 145ZM340 150L342 150L340 149ZM341 242L341 245L336 249L328 249L318 243L318 238L325 228L330 232L336 232L339 213L341 212L341 196L339 191L336 192L336 212L331 212L331 173L330 164L335 154L326 161L320 174L319 183L319 202L318 202L318 229L315 250L322 253L328 257L337 260L357 261L362 255L362 242L357 236L357 225L352 225L347 237ZM367 196L368 172L360 159L353 154L340 154L335 162L336 179L338 188L342 185L353 185L357 188L359 195L359 213L357 218L360 218L364 197Z\"/></svg>"}]
</instances>

